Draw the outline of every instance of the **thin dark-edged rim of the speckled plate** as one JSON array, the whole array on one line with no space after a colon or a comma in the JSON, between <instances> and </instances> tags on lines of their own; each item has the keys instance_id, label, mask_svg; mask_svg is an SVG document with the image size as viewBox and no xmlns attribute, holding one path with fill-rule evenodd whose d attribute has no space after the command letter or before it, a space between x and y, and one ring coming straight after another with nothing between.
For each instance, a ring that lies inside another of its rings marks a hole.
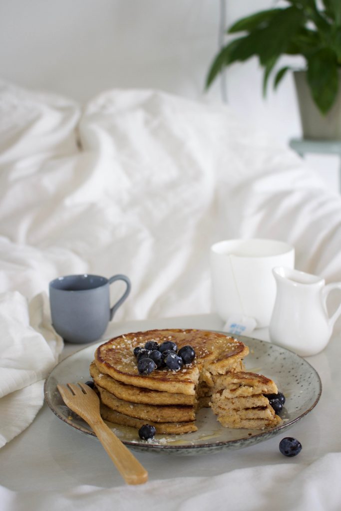
<instances>
[{"instance_id":1,"label":"thin dark-edged rim of the speckled plate","mask_svg":"<svg viewBox=\"0 0 341 511\"><path fill-rule=\"evenodd\" d=\"M174 329L157 329L157 330L174 330ZM185 330L201 330L201 331L204 330L206 332L220 333L220 334L226 335L227 337L229 336L228 332L223 332L221 330L187 329L187 328ZM122 335L122 334L120 334L120 335ZM115 337L119 337L119 336L115 336ZM178 451L181 451L181 450L186 450L186 451L201 451L201 450L205 450L205 449L214 450L214 449L218 449L218 448L222 448L222 447L226 447L226 446L233 446L234 444L237 444L237 443L240 443L240 442L243 442L243 441L245 442L245 440L249 440L249 442L247 444L251 445L251 444L256 444L256 443L260 442L263 437L264 437L264 440L265 440L265 439L267 439L270 436L274 436L274 435L278 434L282 429L287 429L287 428L291 427L293 424L295 424L296 422L298 422L301 419L303 419L303 417L305 417L309 412L311 412L311 410L313 410L313 408L315 408L317 403L319 403L321 395L322 395L322 390L323 390L321 377L320 377L319 373L317 373L316 369L305 358L301 357L300 355L298 355L294 351L287 349L286 347L280 346L278 344L275 344L275 343L272 343L272 342L269 342L269 341L265 341L263 339L257 339L256 337L248 337L248 336L245 336L245 335L236 335L236 334L230 334L230 336L234 337L237 340L241 340L246 345L247 345L247 340L252 340L252 341L261 342L261 343L263 343L265 345L276 346L277 348L283 350L284 352L291 353L292 355L294 355L298 359L301 359L305 364L307 364L310 367L312 373L315 375L316 380L317 380L317 382L319 384L319 391L318 391L317 396L315 397L315 401L312 403L312 405L307 410L305 410L303 413L301 413L299 416L297 416L294 419L292 419L291 421L286 422L286 423L283 422L283 423L279 424L278 426L276 426L275 428L261 430L260 433L252 435L252 436L246 436L246 437L236 438L236 439L232 439L232 440L219 440L219 441L217 441L217 442L215 442L213 444L212 443L211 444L203 443L203 444L186 444L186 445L164 445L164 444L156 444L156 443L154 444L154 443L141 442L139 440L137 440L135 442L135 441L124 440L124 439L120 438L121 442L124 445L128 446L128 447L131 447L131 448L134 448L134 449L140 449L140 450L143 450L143 451L149 451L149 452L150 451L177 451L178 452ZM85 351L85 350L89 349L91 346L101 345L101 344L103 344L103 343L107 342L108 340L113 339L115 337L110 337L110 338L104 339L102 341L95 341L95 342L93 342L91 344L88 344L87 346L84 346L84 347L80 348L79 350L75 351L74 353L72 353L70 355L67 355L60 362L58 362L58 364L56 364L51 369L51 371L49 371L49 374L47 375L47 377L46 377L46 379L44 381L44 387L43 387L44 401L48 404L49 408L58 417L58 419L63 421L68 426L71 426L74 430L76 430L76 431L78 431L80 433L92 436L94 438L97 438L97 436L96 436L96 434L95 434L95 432L93 430L88 430L88 429L82 428L80 426L76 426L75 424L72 424L71 421L67 421L67 419L63 415L58 413L56 408L52 406L52 403L50 403L50 400L48 398L48 388L47 388L48 387L48 382L49 382L50 377L54 373L55 369L60 364L62 364L65 360L78 355L82 351ZM84 421L84 423L87 424L85 421ZM112 424L114 424L114 423L112 423ZM252 429L252 428L250 428L250 429ZM247 430L245 429L245 431L247 431ZM255 442L252 441L253 439L255 439ZM247 446L245 446L245 447L247 447Z\"/></svg>"}]
</instances>

